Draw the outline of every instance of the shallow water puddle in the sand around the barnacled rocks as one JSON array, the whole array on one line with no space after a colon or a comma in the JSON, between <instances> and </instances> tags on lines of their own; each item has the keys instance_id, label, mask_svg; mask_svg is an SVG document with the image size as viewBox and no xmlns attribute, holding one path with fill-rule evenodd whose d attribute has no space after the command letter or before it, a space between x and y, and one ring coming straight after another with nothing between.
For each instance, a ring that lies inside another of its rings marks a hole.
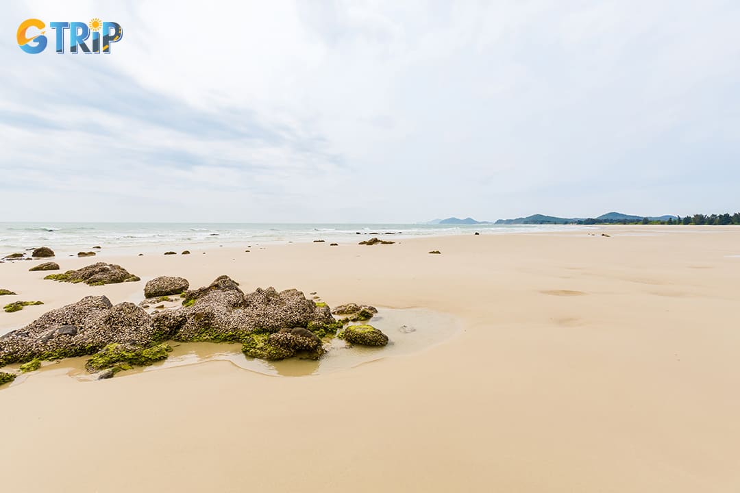
<instances>
[{"instance_id":1,"label":"shallow water puddle in the sand around the barnacled rocks","mask_svg":"<svg viewBox=\"0 0 740 493\"><path fill-rule=\"evenodd\" d=\"M385 347L363 347L347 344L342 339L334 338L327 347L327 352L319 361L303 359L286 359L283 361L265 361L248 358L241 352L241 344L219 344L213 342L175 342L170 341L172 353L164 361L149 367L135 367L120 372L114 378L125 377L135 373L166 370L189 364L200 364L204 361L231 361L244 370L273 376L323 375L347 370L360 364L377 361L389 356L403 356L417 353L428 347L450 339L460 331L460 321L454 316L423 308L379 308L378 313L369 324L386 333L390 341ZM33 378L38 372L61 371L81 381L95 380L84 370L89 357L67 358L61 361L44 361L41 370L19 375L10 386L21 384L27 378ZM17 370L19 365L8 365Z\"/></svg>"}]
</instances>

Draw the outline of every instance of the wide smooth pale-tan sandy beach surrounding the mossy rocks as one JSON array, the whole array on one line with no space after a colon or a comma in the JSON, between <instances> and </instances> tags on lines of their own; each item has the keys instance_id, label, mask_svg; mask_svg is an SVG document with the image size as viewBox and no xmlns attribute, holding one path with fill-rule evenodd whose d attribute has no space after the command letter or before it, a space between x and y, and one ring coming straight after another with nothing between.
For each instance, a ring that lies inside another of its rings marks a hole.
<instances>
[{"instance_id":1,"label":"wide smooth pale-tan sandy beach surrounding the mossy rocks","mask_svg":"<svg viewBox=\"0 0 740 493\"><path fill-rule=\"evenodd\" d=\"M331 306L425 307L462 327L327 375L225 361L96 382L30 375L0 388L2 489L738 491L740 228L394 239L55 258L142 279L98 287L1 264L0 288L19 293L3 304L44 305L0 313L0 334L89 294L139 302L155 276L197 288L221 274Z\"/></svg>"}]
</instances>

